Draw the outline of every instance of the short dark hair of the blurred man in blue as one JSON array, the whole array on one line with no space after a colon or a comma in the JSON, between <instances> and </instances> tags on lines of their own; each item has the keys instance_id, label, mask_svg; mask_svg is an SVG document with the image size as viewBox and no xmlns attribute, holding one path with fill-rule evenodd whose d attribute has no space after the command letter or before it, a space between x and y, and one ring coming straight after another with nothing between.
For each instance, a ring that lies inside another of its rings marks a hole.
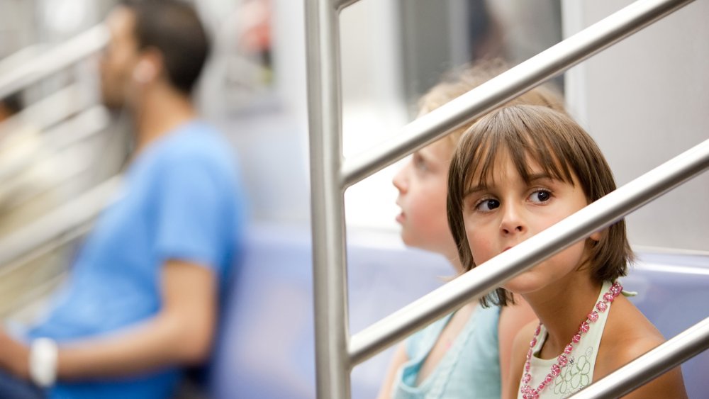
<instances>
[{"instance_id":1,"label":"short dark hair of the blurred man in blue","mask_svg":"<svg viewBox=\"0 0 709 399\"><path fill-rule=\"evenodd\" d=\"M140 50L158 50L169 82L191 94L209 53L209 40L194 8L177 0L123 0L121 5L135 15Z\"/></svg>"}]
</instances>

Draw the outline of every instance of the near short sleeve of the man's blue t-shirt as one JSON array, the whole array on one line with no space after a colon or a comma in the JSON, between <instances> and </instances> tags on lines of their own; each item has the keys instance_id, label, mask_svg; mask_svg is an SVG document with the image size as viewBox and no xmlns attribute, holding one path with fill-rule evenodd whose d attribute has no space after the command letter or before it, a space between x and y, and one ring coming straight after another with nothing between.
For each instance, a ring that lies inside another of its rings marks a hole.
<instances>
[{"instance_id":1,"label":"near short sleeve of the man's blue t-shirt","mask_svg":"<svg viewBox=\"0 0 709 399\"><path fill-rule=\"evenodd\" d=\"M165 170L156 210L156 250L161 262L177 259L216 269L220 264L223 193L218 170L199 159L181 159Z\"/></svg>"}]
</instances>

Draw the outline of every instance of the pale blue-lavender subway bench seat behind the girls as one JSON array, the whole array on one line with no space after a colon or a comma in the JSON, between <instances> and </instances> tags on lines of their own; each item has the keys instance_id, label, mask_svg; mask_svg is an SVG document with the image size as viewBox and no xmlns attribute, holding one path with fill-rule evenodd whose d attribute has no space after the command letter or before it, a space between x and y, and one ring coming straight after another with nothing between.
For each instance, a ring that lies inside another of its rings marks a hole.
<instances>
[{"instance_id":1,"label":"pale blue-lavender subway bench seat behind the girls","mask_svg":"<svg viewBox=\"0 0 709 399\"><path fill-rule=\"evenodd\" d=\"M240 279L228 299L208 388L213 398L314 398L313 276L307 227L259 225L248 235ZM440 256L407 249L398 235L348 232L350 331L358 332L445 283ZM709 315L709 259L640 254L623 279L633 302L665 337ZM389 349L354 368L352 398L373 398ZM709 391L709 352L683 365L688 393Z\"/></svg>"}]
</instances>

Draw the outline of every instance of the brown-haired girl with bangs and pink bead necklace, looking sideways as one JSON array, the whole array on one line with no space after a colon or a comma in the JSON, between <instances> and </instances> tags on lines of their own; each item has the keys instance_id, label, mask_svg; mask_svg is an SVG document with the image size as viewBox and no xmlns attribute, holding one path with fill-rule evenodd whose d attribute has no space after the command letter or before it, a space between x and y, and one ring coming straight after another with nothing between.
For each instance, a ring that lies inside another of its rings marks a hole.
<instances>
[{"instance_id":1,"label":"brown-haired girl with bangs and pink bead necklace, looking sideways","mask_svg":"<svg viewBox=\"0 0 709 399\"><path fill-rule=\"evenodd\" d=\"M539 106L481 118L460 140L449 176L448 219L468 268L615 190L593 139L568 116ZM498 290L498 304L520 295L540 320L515 337L506 398L565 398L663 342L620 295L617 279L631 259L620 220ZM627 395L685 397L679 368Z\"/></svg>"}]
</instances>

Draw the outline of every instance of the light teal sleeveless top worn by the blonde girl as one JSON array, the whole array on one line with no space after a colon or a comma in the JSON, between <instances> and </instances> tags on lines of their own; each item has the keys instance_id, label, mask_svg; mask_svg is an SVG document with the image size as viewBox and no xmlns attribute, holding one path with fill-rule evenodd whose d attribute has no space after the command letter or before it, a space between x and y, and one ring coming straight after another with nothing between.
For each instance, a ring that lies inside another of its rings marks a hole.
<instances>
[{"instance_id":1,"label":"light teal sleeveless top worn by the blonde girl","mask_svg":"<svg viewBox=\"0 0 709 399\"><path fill-rule=\"evenodd\" d=\"M406 340L408 361L396 374L393 399L499 399L501 392L498 343L498 307L477 305L470 319L435 370L415 385L423 361L452 314L443 317Z\"/></svg>"}]
</instances>

